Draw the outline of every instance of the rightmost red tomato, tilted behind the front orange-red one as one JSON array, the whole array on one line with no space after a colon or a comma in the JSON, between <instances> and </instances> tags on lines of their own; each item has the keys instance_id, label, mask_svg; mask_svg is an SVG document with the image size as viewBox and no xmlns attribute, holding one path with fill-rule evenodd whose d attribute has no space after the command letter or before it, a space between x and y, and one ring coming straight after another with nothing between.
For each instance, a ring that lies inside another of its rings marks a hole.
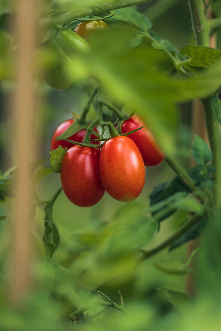
<instances>
[{"instance_id":1,"label":"rightmost red tomato, tilted behind the front orange-red one","mask_svg":"<svg viewBox=\"0 0 221 331\"><path fill-rule=\"evenodd\" d=\"M138 129L141 126L144 126L144 128L135 133L129 134L128 137L131 138L137 145L140 154L142 155L144 165L156 166L163 161L164 155L157 146L153 135L148 130L142 119L136 115L130 119L127 119L122 124L121 131L122 133L127 133Z\"/></svg>"}]
</instances>

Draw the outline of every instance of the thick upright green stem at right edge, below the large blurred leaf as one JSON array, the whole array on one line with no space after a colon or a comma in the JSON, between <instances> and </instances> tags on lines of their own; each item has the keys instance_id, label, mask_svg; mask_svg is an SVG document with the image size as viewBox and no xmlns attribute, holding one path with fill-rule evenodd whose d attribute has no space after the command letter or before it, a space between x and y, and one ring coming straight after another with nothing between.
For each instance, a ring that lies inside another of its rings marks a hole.
<instances>
[{"instance_id":1,"label":"thick upright green stem at right edge, below the large blurred leaf","mask_svg":"<svg viewBox=\"0 0 221 331\"><path fill-rule=\"evenodd\" d=\"M212 111L211 106L212 97L203 99L203 105L205 108L206 127L209 137L210 148L212 152L212 166L217 170L215 172L215 179L213 184L213 203L216 212L221 211L221 135L220 124L217 121Z\"/></svg>"}]
</instances>

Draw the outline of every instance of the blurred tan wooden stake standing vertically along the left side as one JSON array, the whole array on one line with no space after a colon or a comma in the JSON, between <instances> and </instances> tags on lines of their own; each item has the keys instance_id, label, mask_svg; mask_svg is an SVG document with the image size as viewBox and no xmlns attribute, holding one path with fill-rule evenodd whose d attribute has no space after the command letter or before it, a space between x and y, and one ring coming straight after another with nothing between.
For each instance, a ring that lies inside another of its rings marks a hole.
<instances>
[{"instance_id":1,"label":"blurred tan wooden stake standing vertically along the left side","mask_svg":"<svg viewBox=\"0 0 221 331\"><path fill-rule=\"evenodd\" d=\"M29 220L28 163L33 159L31 127L34 114L33 88L34 51L36 48L36 0L16 0L17 17L14 24L18 37L16 58L16 89L13 113L15 119L14 150L17 158L17 209L13 240L13 272L11 296L18 303L29 287Z\"/></svg>"}]
</instances>

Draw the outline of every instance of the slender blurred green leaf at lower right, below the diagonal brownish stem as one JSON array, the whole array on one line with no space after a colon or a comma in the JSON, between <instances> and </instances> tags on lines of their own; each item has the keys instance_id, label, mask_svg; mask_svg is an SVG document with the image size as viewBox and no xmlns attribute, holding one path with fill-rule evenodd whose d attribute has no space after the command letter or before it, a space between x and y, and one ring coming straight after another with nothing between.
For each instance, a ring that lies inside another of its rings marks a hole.
<instances>
[{"instance_id":1,"label":"slender blurred green leaf at lower right, below the diagonal brownish stem","mask_svg":"<svg viewBox=\"0 0 221 331\"><path fill-rule=\"evenodd\" d=\"M172 275L185 275L192 271L186 264L177 260L157 260L153 262L153 265L158 270Z\"/></svg>"}]
</instances>

